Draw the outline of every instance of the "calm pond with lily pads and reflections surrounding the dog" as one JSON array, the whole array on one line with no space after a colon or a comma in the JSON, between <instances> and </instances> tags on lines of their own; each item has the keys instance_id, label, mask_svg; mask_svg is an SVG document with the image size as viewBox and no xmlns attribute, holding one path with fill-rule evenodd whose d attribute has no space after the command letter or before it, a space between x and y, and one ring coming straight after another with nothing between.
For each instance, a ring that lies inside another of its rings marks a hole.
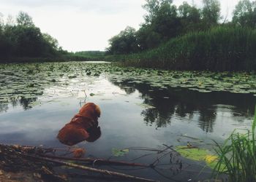
<instances>
[{"instance_id":1,"label":"calm pond with lily pads and reflections surrounding the dog","mask_svg":"<svg viewBox=\"0 0 256 182\"><path fill-rule=\"evenodd\" d=\"M250 128L255 95L253 73L157 71L86 62L1 64L0 140L63 147L56 139L59 130L84 103L93 102L102 110L102 135L94 143L77 145L86 149L86 157L158 162L156 169L103 167L143 178L205 180L211 176L206 162L184 157L172 162L164 149L189 143L211 153L214 141L222 143L233 130ZM129 151L118 156L121 149Z\"/></svg>"}]
</instances>

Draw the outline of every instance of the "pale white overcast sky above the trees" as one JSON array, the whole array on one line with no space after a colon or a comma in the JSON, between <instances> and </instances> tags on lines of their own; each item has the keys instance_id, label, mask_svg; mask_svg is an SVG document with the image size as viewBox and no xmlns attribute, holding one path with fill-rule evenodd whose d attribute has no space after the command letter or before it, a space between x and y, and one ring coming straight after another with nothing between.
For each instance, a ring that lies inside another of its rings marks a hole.
<instances>
[{"instance_id":1,"label":"pale white overcast sky above the trees","mask_svg":"<svg viewBox=\"0 0 256 182\"><path fill-rule=\"evenodd\" d=\"M174 0L177 6L184 0ZM192 0L187 0L192 4ZM200 7L201 0L194 0ZM222 16L231 17L238 0L222 0ZM0 0L0 12L28 12L43 33L58 39L64 50L105 50L108 39L127 25L139 28L145 0Z\"/></svg>"}]
</instances>

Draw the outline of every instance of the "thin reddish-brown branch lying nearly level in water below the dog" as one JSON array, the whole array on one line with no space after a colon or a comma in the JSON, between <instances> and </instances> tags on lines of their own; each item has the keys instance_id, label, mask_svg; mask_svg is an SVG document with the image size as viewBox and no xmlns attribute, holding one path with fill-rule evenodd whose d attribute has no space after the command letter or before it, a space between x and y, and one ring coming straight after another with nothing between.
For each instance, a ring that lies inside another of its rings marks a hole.
<instances>
[{"instance_id":1,"label":"thin reddish-brown branch lying nearly level in water below the dog","mask_svg":"<svg viewBox=\"0 0 256 182\"><path fill-rule=\"evenodd\" d=\"M127 165L127 166L138 166L138 167L151 167L151 165L145 165L135 162L123 162L116 160L108 160L108 159L94 159L94 158L75 158L75 157L60 157L46 154L39 154L40 157L47 157L52 159L64 159L64 160L73 160L78 162L92 162L93 165L96 163L99 165Z\"/></svg>"}]
</instances>

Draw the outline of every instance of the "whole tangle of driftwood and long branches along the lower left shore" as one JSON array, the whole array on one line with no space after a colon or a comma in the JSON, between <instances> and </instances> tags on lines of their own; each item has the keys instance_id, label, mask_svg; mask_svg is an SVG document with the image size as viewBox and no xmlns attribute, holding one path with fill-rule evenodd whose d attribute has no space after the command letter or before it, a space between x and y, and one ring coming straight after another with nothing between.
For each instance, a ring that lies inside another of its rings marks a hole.
<instances>
[{"instance_id":1,"label":"whole tangle of driftwood and long branches along the lower left shore","mask_svg":"<svg viewBox=\"0 0 256 182\"><path fill-rule=\"evenodd\" d=\"M77 162L90 162L92 165L128 165L138 167L151 167L151 165L139 164L134 162L120 162L108 159L92 159L92 158L75 158L75 157L59 157L56 156L56 150L58 149L44 149L42 147L34 146L7 146L0 144L0 170L6 171L28 171L30 173L38 173L46 178L51 178L52 181L67 181L68 175L60 175L54 173L53 167L56 165L62 165L67 167L74 167L80 170L86 170L93 173L105 175L107 178L110 176L112 179L121 179L121 181L154 181L147 178L140 178L133 175L127 175L124 173L116 173L109 170L99 170L94 167L87 167L85 165L77 165L64 160L73 160ZM99 177L102 177L100 175ZM94 176L97 178L97 176Z\"/></svg>"}]
</instances>

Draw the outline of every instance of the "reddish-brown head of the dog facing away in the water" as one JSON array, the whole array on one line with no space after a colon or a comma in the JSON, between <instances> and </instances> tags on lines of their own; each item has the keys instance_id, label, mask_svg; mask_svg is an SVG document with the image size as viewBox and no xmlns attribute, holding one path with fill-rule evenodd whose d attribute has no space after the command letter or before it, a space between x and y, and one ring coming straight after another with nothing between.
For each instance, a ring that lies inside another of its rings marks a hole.
<instances>
[{"instance_id":1,"label":"reddish-brown head of the dog facing away in the water","mask_svg":"<svg viewBox=\"0 0 256 182\"><path fill-rule=\"evenodd\" d=\"M86 103L79 111L80 115L94 119L94 121L98 120L100 113L100 108L95 103Z\"/></svg>"}]
</instances>

